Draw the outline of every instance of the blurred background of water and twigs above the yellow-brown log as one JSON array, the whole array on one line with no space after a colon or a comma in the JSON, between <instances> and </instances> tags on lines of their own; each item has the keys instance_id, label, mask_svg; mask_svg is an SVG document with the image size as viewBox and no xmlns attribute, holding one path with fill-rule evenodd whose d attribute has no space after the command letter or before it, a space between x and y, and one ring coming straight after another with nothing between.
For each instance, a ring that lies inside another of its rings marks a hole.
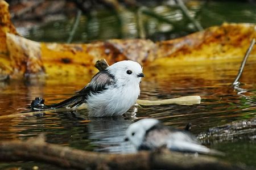
<instances>
[{"instance_id":1,"label":"blurred background of water and twigs above the yellow-brown log","mask_svg":"<svg viewBox=\"0 0 256 170\"><path fill-rule=\"evenodd\" d=\"M256 23L255 0L10 0L20 35L35 41L175 39L229 23Z\"/></svg>"}]
</instances>

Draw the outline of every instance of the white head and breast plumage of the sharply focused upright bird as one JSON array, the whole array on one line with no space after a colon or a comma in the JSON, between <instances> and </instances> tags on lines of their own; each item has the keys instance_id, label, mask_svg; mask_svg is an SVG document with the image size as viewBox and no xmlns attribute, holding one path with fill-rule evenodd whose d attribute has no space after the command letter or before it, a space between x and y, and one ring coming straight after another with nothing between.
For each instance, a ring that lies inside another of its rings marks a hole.
<instances>
[{"instance_id":1,"label":"white head and breast plumage of the sharply focused upright bird","mask_svg":"<svg viewBox=\"0 0 256 170\"><path fill-rule=\"evenodd\" d=\"M113 76L114 82L102 92L90 92L86 100L89 116L122 115L136 103L140 94L139 83L144 75L138 62L120 61L109 66L106 71Z\"/></svg>"}]
</instances>

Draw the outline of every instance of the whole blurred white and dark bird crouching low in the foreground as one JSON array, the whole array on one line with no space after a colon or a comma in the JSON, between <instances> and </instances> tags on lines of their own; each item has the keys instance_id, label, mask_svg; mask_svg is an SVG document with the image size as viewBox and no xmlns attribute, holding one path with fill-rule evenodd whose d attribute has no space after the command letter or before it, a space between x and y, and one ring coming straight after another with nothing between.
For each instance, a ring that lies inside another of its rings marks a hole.
<instances>
[{"instance_id":1,"label":"whole blurred white and dark bird crouching low in the foreground","mask_svg":"<svg viewBox=\"0 0 256 170\"><path fill-rule=\"evenodd\" d=\"M154 150L164 146L172 151L222 155L219 151L200 145L188 131L168 128L153 118L131 124L126 130L125 140L133 143L138 150Z\"/></svg>"}]
</instances>

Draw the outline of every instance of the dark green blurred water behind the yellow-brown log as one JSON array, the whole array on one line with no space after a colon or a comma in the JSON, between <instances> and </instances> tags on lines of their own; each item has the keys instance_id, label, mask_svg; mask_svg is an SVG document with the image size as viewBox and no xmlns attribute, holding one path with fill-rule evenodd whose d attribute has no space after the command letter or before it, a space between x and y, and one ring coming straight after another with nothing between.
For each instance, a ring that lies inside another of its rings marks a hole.
<instances>
[{"instance_id":1,"label":"dark green blurred water behind the yellow-brown log","mask_svg":"<svg viewBox=\"0 0 256 170\"><path fill-rule=\"evenodd\" d=\"M171 1L170 1L171 2ZM256 23L256 5L242 1L190 1L186 4L191 16L203 28L228 23ZM139 11L141 15L138 15ZM20 35L35 41L67 42L75 18L47 23L30 30L19 28ZM140 26L141 25L141 26ZM154 41L174 39L197 31L179 7L159 3L156 7L138 10L125 8L117 13L93 11L81 16L72 42L106 39L133 39L142 36Z\"/></svg>"}]
</instances>

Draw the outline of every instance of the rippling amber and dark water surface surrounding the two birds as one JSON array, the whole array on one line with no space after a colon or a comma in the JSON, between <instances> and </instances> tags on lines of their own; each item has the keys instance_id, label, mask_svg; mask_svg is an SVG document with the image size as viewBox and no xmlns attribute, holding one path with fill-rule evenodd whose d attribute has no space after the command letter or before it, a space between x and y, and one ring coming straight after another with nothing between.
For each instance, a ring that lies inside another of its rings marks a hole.
<instances>
[{"instance_id":1,"label":"rippling amber and dark water surface surrounding the two birds","mask_svg":"<svg viewBox=\"0 0 256 170\"><path fill-rule=\"evenodd\" d=\"M129 142L123 141L125 130L141 118L158 118L165 125L180 129L191 122L194 134L228 122L255 118L256 62L250 61L246 65L240 87L247 92L240 95L230 87L239 66L239 62L154 68L146 66L146 77L141 83L141 99L158 100L199 95L202 97L201 104L134 107L130 112L135 112L135 115L126 114L111 118L89 118L85 109L38 116L1 117L24 111L36 96L44 97L46 103L66 99L84 87L90 76L2 82L0 140L23 140L45 133L49 143L88 151L130 153L135 152L135 149ZM251 132L252 136L255 134L255 130ZM255 139L212 139L205 144L225 152L226 156L223 159L256 167ZM0 169L10 166L28 168L32 165L41 166L40 163L0 164ZM42 167L47 169L47 165Z\"/></svg>"}]
</instances>

